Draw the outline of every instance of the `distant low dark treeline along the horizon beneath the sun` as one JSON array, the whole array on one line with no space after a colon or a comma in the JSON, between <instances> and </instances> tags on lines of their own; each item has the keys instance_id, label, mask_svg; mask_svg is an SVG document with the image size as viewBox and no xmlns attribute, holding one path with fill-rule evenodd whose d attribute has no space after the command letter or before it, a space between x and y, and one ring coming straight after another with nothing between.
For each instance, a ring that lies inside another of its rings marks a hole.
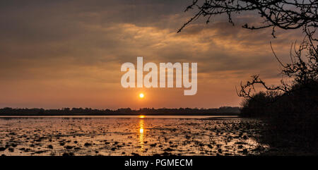
<instances>
[{"instance_id":1,"label":"distant low dark treeline along the horizon beneath the sun","mask_svg":"<svg viewBox=\"0 0 318 170\"><path fill-rule=\"evenodd\" d=\"M192 109L192 108L179 108L179 109L90 109L90 108L63 108L63 109L19 109L5 107L0 109L0 116L71 116L71 115L94 115L94 116L107 116L107 115L211 115L211 116L235 116L240 114L239 107L220 107L215 109Z\"/></svg>"}]
</instances>

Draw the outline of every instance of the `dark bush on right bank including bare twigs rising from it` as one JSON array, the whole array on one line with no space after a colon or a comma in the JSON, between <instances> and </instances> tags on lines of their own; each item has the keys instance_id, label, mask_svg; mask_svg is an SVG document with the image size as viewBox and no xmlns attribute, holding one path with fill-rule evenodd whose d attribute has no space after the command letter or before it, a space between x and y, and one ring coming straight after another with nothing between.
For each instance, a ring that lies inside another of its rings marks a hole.
<instances>
[{"instance_id":1,"label":"dark bush on right bank including bare twigs rising from it","mask_svg":"<svg viewBox=\"0 0 318 170\"><path fill-rule=\"evenodd\" d=\"M268 86L254 75L238 92L246 97L242 116L266 121L260 140L284 154L318 154L318 46L314 42L318 40L312 37L314 32L306 33L300 46L294 44L293 53L290 50L290 63L282 63L273 52L285 78L280 85ZM288 81L291 83L285 83ZM255 92L254 85L261 85L266 92Z\"/></svg>"}]
</instances>

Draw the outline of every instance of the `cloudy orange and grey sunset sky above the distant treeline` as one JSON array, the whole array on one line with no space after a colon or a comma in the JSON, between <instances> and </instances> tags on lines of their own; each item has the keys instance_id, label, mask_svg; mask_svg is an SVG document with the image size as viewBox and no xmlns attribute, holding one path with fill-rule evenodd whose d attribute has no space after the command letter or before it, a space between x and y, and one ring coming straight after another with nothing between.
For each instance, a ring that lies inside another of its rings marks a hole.
<instances>
[{"instance_id":1,"label":"cloudy orange and grey sunset sky above the distant treeline","mask_svg":"<svg viewBox=\"0 0 318 170\"><path fill-rule=\"evenodd\" d=\"M256 15L197 20L192 1L21 1L0 9L0 107L221 107L239 106L235 85L259 74L278 83L279 66L299 32L245 30ZM198 91L120 85L122 63L196 62ZM139 92L145 94L139 99Z\"/></svg>"}]
</instances>

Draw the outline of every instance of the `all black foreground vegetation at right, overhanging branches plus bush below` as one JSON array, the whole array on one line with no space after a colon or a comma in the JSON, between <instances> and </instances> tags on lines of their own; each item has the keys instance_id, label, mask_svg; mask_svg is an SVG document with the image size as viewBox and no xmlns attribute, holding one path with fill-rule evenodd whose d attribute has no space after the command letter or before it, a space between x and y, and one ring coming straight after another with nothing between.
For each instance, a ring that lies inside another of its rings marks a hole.
<instances>
[{"instance_id":1,"label":"all black foreground vegetation at right, overhanging branches plus bush below","mask_svg":"<svg viewBox=\"0 0 318 170\"><path fill-rule=\"evenodd\" d=\"M228 22L235 25L234 19L240 19L235 16L245 12L257 13L262 22L245 23L242 28L270 28L274 38L277 29L302 31L300 46L296 48L293 43L288 51L290 63L283 63L272 47L282 68L280 85L266 85L259 75L253 75L252 80L241 83L237 95L245 97L242 116L266 121L260 140L285 154L318 154L318 1L195 0L185 11L190 10L195 14L179 32L198 18L206 18L209 23L218 15L228 16ZM257 92L257 85L266 91Z\"/></svg>"}]
</instances>

